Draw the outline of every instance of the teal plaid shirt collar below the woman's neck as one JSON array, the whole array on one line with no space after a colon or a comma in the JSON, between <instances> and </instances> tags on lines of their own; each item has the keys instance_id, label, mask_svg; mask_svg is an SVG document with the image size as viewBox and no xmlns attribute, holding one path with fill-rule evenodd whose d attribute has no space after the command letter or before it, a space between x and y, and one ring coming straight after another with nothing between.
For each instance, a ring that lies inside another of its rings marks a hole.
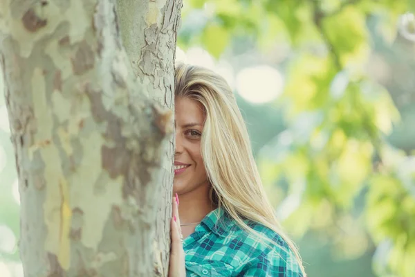
<instances>
[{"instance_id":1,"label":"teal plaid shirt collar below the woman's neck","mask_svg":"<svg viewBox=\"0 0 415 277\"><path fill-rule=\"evenodd\" d=\"M224 208L216 208L203 218L199 226L201 228L205 227L204 229L208 229L216 235L225 237L228 235L233 223L232 217L225 212Z\"/></svg>"}]
</instances>

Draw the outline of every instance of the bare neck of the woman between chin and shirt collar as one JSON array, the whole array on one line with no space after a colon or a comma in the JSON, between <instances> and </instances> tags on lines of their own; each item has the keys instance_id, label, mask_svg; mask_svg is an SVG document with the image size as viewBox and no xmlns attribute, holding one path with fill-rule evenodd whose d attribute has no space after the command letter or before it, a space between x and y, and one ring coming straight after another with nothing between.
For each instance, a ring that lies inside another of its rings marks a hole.
<instances>
[{"instance_id":1,"label":"bare neck of the woman between chin and shirt collar","mask_svg":"<svg viewBox=\"0 0 415 277\"><path fill-rule=\"evenodd\" d=\"M196 190L178 195L178 216L181 224L201 222L216 207L209 199L209 184L199 186ZM195 225L196 226L196 225Z\"/></svg>"}]
</instances>

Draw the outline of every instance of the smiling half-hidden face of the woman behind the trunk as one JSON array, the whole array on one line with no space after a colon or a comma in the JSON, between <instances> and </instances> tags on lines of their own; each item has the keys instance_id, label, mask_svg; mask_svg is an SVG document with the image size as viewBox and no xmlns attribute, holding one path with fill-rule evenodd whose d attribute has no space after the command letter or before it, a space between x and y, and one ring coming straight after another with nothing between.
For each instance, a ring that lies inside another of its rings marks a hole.
<instances>
[{"instance_id":1,"label":"smiling half-hidden face of the woman behind the trunk","mask_svg":"<svg viewBox=\"0 0 415 277\"><path fill-rule=\"evenodd\" d=\"M176 151L174 154L174 192L190 193L208 185L201 154L201 135L205 116L203 106L190 98L176 98Z\"/></svg>"}]
</instances>

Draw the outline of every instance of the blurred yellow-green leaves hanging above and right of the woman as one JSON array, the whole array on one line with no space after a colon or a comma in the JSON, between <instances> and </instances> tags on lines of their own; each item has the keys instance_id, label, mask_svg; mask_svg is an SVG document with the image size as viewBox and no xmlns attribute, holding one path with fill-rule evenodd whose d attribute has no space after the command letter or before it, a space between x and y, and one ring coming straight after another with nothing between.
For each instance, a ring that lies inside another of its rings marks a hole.
<instances>
[{"instance_id":1,"label":"blurred yellow-green leaves hanging above and right of the woman","mask_svg":"<svg viewBox=\"0 0 415 277\"><path fill-rule=\"evenodd\" d=\"M291 233L325 230L356 257L371 244L364 224L378 276L415 276L415 157L389 142L400 113L367 64L374 32L389 46L415 37L415 20L402 20L414 10L404 0L189 0L178 37L216 58L241 42L264 53L288 44L275 103L286 129L259 151L261 177L284 195L274 201Z\"/></svg>"}]
</instances>

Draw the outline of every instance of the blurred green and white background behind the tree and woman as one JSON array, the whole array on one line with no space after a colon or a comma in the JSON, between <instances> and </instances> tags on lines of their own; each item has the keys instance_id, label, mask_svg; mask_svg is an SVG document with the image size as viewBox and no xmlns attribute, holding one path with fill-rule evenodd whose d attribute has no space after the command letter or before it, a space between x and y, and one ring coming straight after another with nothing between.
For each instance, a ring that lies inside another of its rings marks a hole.
<instances>
[{"instance_id":1,"label":"blurred green and white background behind the tree and woman","mask_svg":"<svg viewBox=\"0 0 415 277\"><path fill-rule=\"evenodd\" d=\"M414 10L414 0L185 0L176 58L234 89L310 277L415 276ZM1 78L0 94L0 276L18 277Z\"/></svg>"}]
</instances>

